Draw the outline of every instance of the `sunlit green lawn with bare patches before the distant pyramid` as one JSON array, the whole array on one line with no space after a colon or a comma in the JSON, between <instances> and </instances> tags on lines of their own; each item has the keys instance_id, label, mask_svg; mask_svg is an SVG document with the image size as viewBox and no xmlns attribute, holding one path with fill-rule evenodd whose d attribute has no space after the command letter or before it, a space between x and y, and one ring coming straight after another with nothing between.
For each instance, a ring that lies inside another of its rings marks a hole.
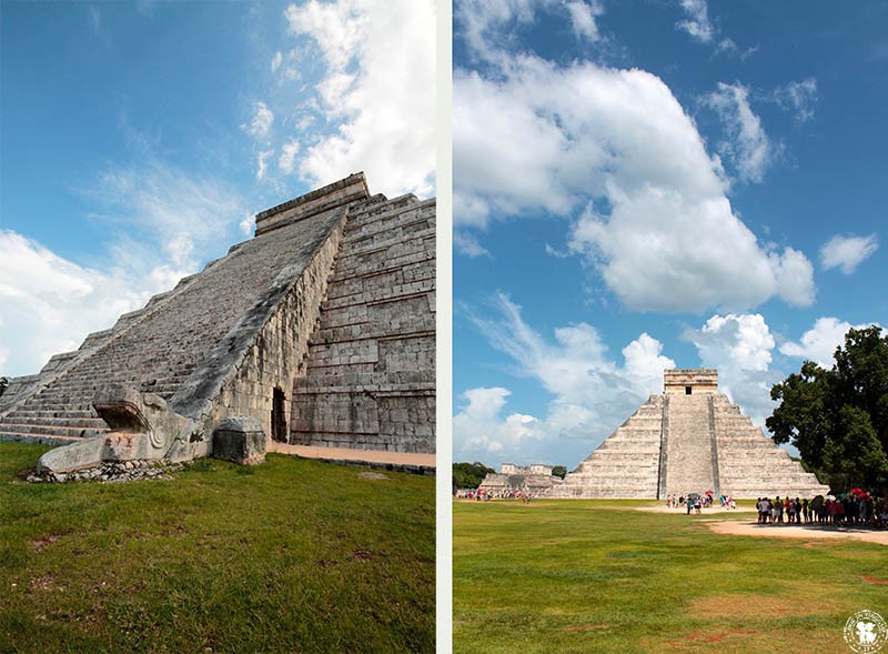
<instances>
[{"instance_id":1,"label":"sunlit green lawn with bare patches before the distant pyramid","mask_svg":"<svg viewBox=\"0 0 888 654\"><path fill-rule=\"evenodd\" d=\"M455 502L453 651L835 654L851 614L888 618L885 545L718 535L704 521L755 514L638 504Z\"/></svg>"}]
</instances>

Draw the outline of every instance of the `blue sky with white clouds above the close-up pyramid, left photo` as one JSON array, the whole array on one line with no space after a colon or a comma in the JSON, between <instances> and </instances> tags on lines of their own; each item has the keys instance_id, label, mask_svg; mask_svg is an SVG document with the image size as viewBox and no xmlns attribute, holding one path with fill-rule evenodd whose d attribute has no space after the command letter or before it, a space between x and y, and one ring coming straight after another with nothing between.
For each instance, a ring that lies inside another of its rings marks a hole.
<instances>
[{"instance_id":1,"label":"blue sky with white clouds above the close-up pyramid, left photo","mask_svg":"<svg viewBox=\"0 0 888 654\"><path fill-rule=\"evenodd\" d=\"M0 12L0 374L37 372L320 184L363 170L372 192L435 194L431 0Z\"/></svg>"}]
</instances>

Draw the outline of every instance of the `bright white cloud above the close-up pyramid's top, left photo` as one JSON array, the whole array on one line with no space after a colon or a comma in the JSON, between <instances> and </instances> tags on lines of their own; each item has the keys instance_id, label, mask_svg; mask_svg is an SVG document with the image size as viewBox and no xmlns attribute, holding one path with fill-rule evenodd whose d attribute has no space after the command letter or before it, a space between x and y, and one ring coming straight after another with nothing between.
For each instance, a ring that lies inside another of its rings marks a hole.
<instances>
[{"instance_id":1,"label":"bright white cloud above the close-up pyramid's top, left photo","mask_svg":"<svg viewBox=\"0 0 888 654\"><path fill-rule=\"evenodd\" d=\"M325 64L317 107L332 128L303 142L300 175L322 184L363 170L374 191L434 194L434 3L310 0L285 17Z\"/></svg>"}]
</instances>

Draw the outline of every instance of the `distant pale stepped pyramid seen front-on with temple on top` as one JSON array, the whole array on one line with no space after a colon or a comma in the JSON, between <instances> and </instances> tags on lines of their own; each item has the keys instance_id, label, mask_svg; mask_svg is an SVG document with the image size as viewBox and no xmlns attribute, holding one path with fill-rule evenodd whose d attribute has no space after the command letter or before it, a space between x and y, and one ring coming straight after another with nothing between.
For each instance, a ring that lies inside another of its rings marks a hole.
<instances>
[{"instance_id":1,"label":"distant pale stepped pyramid seen front-on with temple on top","mask_svg":"<svg viewBox=\"0 0 888 654\"><path fill-rule=\"evenodd\" d=\"M715 370L664 371L652 395L551 497L810 497L828 487L789 459L727 396Z\"/></svg>"}]
</instances>

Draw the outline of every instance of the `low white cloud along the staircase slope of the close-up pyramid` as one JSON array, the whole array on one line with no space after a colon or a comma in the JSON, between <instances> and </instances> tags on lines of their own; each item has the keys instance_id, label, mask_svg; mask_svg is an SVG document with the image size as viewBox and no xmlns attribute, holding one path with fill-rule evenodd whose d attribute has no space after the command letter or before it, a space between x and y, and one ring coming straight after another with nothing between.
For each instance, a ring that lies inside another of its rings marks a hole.
<instances>
[{"instance_id":1,"label":"low white cloud along the staircase slope of the close-up pyramid","mask_svg":"<svg viewBox=\"0 0 888 654\"><path fill-rule=\"evenodd\" d=\"M158 162L104 173L84 191L109 239L100 262L75 263L16 232L0 232L0 374L31 374L77 349L150 295L195 272L198 254L224 253L248 213L223 181Z\"/></svg>"}]
</instances>

